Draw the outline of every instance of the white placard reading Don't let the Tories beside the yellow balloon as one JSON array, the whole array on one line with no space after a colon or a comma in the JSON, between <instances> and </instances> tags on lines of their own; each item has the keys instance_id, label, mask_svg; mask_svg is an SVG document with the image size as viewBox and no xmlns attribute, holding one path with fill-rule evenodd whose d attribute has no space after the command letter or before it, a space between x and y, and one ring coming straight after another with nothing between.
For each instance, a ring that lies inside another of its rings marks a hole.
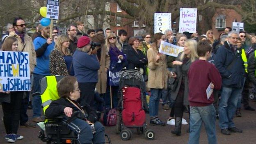
<instances>
[{"instance_id":1,"label":"white placard reading Don't let the Tories beside the yellow balloon","mask_svg":"<svg viewBox=\"0 0 256 144\"><path fill-rule=\"evenodd\" d=\"M46 18L59 19L59 0L47 0Z\"/></svg>"}]
</instances>

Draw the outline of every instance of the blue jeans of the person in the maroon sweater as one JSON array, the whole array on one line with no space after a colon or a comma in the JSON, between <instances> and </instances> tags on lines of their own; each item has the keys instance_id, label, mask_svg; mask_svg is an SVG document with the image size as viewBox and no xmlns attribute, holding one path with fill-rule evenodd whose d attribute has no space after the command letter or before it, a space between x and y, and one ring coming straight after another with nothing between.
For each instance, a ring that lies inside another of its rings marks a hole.
<instances>
[{"instance_id":1,"label":"blue jeans of the person in the maroon sweater","mask_svg":"<svg viewBox=\"0 0 256 144\"><path fill-rule=\"evenodd\" d=\"M216 110L213 104L204 107L190 107L190 136L188 144L199 144L202 123L205 126L208 144L217 144Z\"/></svg>"}]
</instances>

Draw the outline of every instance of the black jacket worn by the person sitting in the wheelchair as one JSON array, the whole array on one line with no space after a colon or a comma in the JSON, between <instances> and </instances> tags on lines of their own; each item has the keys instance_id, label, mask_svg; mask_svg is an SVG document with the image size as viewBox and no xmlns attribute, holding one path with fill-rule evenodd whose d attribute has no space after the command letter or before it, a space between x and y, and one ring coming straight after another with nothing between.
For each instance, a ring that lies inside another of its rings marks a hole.
<instances>
[{"instance_id":1,"label":"black jacket worn by the person sitting in the wheelchair","mask_svg":"<svg viewBox=\"0 0 256 144\"><path fill-rule=\"evenodd\" d=\"M78 102L83 107L83 110L85 113L88 114L87 120L94 123L98 120L98 116L96 115L96 110L90 107L87 103L84 101L81 101L78 99L76 102ZM64 114L64 108L65 107L71 107L73 109L73 112L79 111L78 108L76 108L72 103L70 103L66 98L59 98L55 101L52 101L50 103L49 107L46 109L45 114L47 118L53 119L55 117L58 117L60 115ZM78 114L79 119L85 119L82 112Z\"/></svg>"}]
</instances>

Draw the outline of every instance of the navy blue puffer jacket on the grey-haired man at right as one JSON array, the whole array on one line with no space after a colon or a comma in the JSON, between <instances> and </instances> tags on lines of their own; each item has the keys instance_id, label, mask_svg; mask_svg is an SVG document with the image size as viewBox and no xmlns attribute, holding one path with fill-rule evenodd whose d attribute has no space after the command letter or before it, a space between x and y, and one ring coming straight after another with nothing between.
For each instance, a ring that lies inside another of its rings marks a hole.
<instances>
[{"instance_id":1,"label":"navy blue puffer jacket on the grey-haired man at right","mask_svg":"<svg viewBox=\"0 0 256 144\"><path fill-rule=\"evenodd\" d=\"M235 59L235 63L228 66ZM233 51L229 43L225 42L219 48L215 57L215 66L222 76L222 86L230 88L241 88L245 77L245 67L242 60L241 53L236 50Z\"/></svg>"}]
</instances>

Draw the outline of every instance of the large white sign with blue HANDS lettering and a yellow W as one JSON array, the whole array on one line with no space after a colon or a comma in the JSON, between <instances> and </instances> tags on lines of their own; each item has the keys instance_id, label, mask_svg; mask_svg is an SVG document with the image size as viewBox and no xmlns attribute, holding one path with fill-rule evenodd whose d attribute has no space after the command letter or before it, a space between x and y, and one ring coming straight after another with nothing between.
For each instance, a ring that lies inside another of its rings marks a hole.
<instances>
[{"instance_id":1,"label":"large white sign with blue HANDS lettering and a yellow W","mask_svg":"<svg viewBox=\"0 0 256 144\"><path fill-rule=\"evenodd\" d=\"M30 91L30 66L27 52L0 51L0 89Z\"/></svg>"}]
</instances>

